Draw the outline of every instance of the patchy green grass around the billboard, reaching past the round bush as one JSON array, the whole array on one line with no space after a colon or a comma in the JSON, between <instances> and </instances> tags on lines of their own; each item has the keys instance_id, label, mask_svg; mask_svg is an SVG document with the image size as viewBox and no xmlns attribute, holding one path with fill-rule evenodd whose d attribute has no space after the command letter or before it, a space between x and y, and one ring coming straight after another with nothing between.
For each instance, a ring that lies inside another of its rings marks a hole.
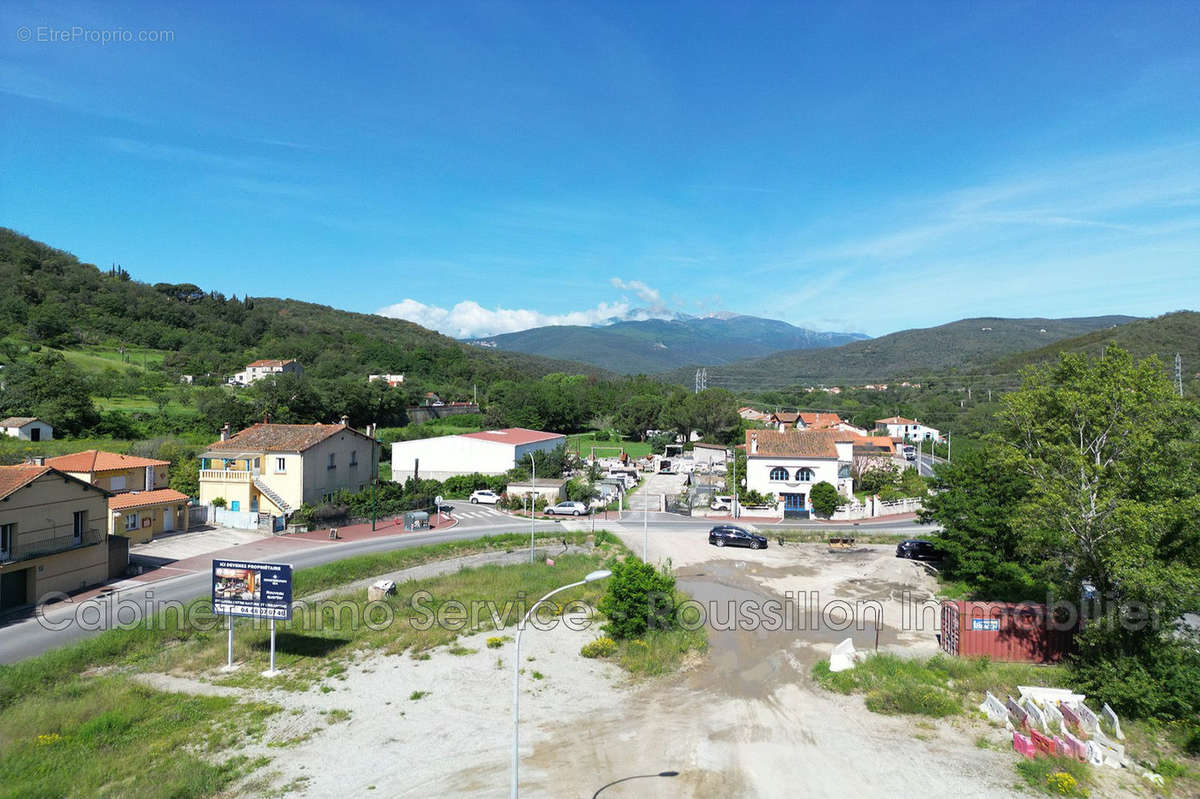
<instances>
[{"instance_id":1,"label":"patchy green grass around the billboard, reaching past the round bush","mask_svg":"<svg viewBox=\"0 0 1200 799\"><path fill-rule=\"evenodd\" d=\"M557 542L564 536L539 536ZM568 534L582 543L583 534ZM413 549L361 555L300 570L295 595L305 596L348 582L397 569L487 549L512 549L528 542L524 535L454 541ZM343 679L346 661L362 651L408 651L425 657L432 647L452 644L460 635L503 630L520 620L517 608L564 582L580 579L611 558L626 553L613 536L598 533L589 554L544 564L482 566L400 587L385 607L395 621L361 623L365 591L338 597L338 612L317 624L313 613L298 613L280 625L277 667L284 677L270 685L306 690L326 680ZM604 583L564 591L556 600L595 603ZM420 601L412 600L418 591ZM522 597L524 597L522 600ZM506 618L497 625L491 613L468 621L461 631L448 625L422 624L426 615L457 600L492 602ZM380 606L376 606L377 611ZM521 607L521 613L524 608ZM368 619L373 617L366 617ZM376 617L376 621L378 618ZM235 641L242 668L220 680L226 685L264 686L259 672L268 662L265 624L242 620ZM616 662L635 674L660 674L678 668L691 651L702 650L704 633L650 633L623 642ZM160 614L156 623L130 630L110 630L76 644L11 666L0 666L0 799L17 797L137 795L191 799L220 795L266 761L251 761L236 749L258 740L264 720L277 709L259 702L193 697L146 687L134 673L169 669L197 672L224 660L224 630L209 611L209 600L197 599L184 608Z\"/></svg>"}]
</instances>

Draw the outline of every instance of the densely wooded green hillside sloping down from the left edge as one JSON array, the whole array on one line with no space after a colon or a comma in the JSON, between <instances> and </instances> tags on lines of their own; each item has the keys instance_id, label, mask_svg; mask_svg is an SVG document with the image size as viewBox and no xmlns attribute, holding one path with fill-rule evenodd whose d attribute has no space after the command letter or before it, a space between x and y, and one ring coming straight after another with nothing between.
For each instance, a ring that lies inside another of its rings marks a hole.
<instances>
[{"instance_id":1,"label":"densely wooded green hillside sloping down from the left edge","mask_svg":"<svg viewBox=\"0 0 1200 799\"><path fill-rule=\"evenodd\" d=\"M437 386L601 370L486 350L400 319L274 298L227 298L191 283L132 280L0 228L0 362L67 350L85 371L150 367L227 376L257 358L295 358L317 379L403 373ZM121 350L125 350L124 353Z\"/></svg>"}]
</instances>

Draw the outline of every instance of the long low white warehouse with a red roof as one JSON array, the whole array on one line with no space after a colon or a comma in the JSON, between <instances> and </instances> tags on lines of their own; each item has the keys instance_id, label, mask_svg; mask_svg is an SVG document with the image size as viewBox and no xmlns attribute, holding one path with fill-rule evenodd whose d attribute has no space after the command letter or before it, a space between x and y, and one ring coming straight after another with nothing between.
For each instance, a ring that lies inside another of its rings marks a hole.
<instances>
[{"instance_id":1,"label":"long low white warehouse with a red roof","mask_svg":"<svg viewBox=\"0 0 1200 799\"><path fill-rule=\"evenodd\" d=\"M486 429L479 433L419 438L391 445L391 479L403 482L412 476L445 480L460 474L505 474L533 453L566 444L559 433L524 427Z\"/></svg>"}]
</instances>

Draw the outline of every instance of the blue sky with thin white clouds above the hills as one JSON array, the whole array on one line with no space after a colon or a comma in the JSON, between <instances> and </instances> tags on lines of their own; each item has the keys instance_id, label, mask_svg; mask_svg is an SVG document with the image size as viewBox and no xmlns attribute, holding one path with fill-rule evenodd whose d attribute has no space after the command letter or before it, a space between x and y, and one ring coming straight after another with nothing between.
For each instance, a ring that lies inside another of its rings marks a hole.
<instances>
[{"instance_id":1,"label":"blue sky with thin white clouds above the hills","mask_svg":"<svg viewBox=\"0 0 1200 799\"><path fill-rule=\"evenodd\" d=\"M190 5L6 6L0 224L461 336L1200 306L1194 2Z\"/></svg>"}]
</instances>

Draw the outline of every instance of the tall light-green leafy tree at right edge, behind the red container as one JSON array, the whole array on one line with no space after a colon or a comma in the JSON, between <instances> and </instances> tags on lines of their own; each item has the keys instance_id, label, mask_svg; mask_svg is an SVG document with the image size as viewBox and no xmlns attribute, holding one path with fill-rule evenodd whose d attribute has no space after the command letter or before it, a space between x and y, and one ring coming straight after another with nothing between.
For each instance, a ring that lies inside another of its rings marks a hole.
<instances>
[{"instance_id":1,"label":"tall light-green leafy tree at right edge, behind the red container","mask_svg":"<svg viewBox=\"0 0 1200 799\"><path fill-rule=\"evenodd\" d=\"M1000 420L1030 480L1015 519L1027 563L1060 596L1097 597L1079 686L1129 714L1194 719L1200 642L1176 620L1200 607L1200 409L1157 358L1110 347L1030 370Z\"/></svg>"}]
</instances>

